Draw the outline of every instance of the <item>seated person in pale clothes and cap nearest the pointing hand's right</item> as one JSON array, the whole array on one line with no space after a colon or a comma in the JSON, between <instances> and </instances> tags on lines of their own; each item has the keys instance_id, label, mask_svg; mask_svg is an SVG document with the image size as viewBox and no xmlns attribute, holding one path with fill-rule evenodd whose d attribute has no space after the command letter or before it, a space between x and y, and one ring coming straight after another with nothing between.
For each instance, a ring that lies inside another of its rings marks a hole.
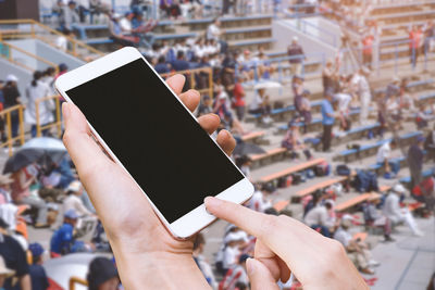
<instances>
[{"instance_id":1,"label":"seated person in pale clothes and cap nearest the pointing hand's right","mask_svg":"<svg viewBox=\"0 0 435 290\"><path fill-rule=\"evenodd\" d=\"M349 232L351 226L352 217L350 215L345 215L341 218L340 226L334 234L334 239L345 247L350 261L353 262L355 266L359 268L361 273L373 275L374 272L370 266L378 266L380 263L371 259L372 254L364 242L353 239L352 235Z\"/></svg>"}]
</instances>

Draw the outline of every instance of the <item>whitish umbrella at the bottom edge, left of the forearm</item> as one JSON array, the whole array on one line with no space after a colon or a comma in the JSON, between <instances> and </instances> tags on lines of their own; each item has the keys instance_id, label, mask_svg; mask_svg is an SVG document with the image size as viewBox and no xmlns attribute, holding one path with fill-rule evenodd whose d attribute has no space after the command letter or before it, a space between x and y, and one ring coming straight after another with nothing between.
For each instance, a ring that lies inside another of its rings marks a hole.
<instances>
[{"instance_id":1,"label":"whitish umbrella at the bottom edge, left of the forearm","mask_svg":"<svg viewBox=\"0 0 435 290\"><path fill-rule=\"evenodd\" d=\"M62 289L70 289L71 277L77 277L86 280L89 264L97 256L107 256L104 254L75 253L62 257L51 259L44 263L49 280L54 281ZM87 289L87 287L76 285L77 290Z\"/></svg>"}]
</instances>

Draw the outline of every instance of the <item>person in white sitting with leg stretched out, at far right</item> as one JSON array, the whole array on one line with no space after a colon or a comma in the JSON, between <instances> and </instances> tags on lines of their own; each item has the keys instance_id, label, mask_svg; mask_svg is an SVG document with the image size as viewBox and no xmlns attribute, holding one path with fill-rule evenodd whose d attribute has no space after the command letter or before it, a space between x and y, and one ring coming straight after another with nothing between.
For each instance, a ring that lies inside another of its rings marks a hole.
<instances>
[{"instance_id":1,"label":"person in white sitting with leg stretched out, at far right","mask_svg":"<svg viewBox=\"0 0 435 290\"><path fill-rule=\"evenodd\" d=\"M389 191L384 202L383 214L393 223L393 226L405 223L417 237L424 234L417 226L415 219L407 207L400 209L400 196L406 193L402 185L397 184Z\"/></svg>"}]
</instances>

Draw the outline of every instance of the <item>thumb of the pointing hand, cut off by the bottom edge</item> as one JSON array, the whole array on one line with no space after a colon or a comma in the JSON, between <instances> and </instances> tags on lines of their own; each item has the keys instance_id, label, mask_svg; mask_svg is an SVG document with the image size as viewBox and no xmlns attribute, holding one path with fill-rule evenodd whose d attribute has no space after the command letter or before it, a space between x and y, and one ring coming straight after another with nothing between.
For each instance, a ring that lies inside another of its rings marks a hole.
<instances>
[{"instance_id":1,"label":"thumb of the pointing hand, cut off by the bottom edge","mask_svg":"<svg viewBox=\"0 0 435 290\"><path fill-rule=\"evenodd\" d=\"M263 263L256 259L246 261L251 290L278 290L275 279Z\"/></svg>"}]
</instances>

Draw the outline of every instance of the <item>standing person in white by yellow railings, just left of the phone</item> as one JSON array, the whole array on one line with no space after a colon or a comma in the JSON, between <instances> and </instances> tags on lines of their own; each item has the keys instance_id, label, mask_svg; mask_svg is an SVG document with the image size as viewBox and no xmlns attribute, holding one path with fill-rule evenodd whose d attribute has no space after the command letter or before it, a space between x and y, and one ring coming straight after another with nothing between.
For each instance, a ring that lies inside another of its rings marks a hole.
<instances>
[{"instance_id":1,"label":"standing person in white by yellow railings, just left of the phone","mask_svg":"<svg viewBox=\"0 0 435 290\"><path fill-rule=\"evenodd\" d=\"M35 138L37 134L37 125L46 126L54 121L53 110L55 104L53 100L39 102L38 116L36 115L36 102L40 99L51 96L50 87L42 81L42 72L35 71L32 84L26 88L27 105L24 111L24 119L27 124L32 125L32 137ZM38 122L39 121L39 122ZM42 130L42 136L48 136L49 129Z\"/></svg>"}]
</instances>

